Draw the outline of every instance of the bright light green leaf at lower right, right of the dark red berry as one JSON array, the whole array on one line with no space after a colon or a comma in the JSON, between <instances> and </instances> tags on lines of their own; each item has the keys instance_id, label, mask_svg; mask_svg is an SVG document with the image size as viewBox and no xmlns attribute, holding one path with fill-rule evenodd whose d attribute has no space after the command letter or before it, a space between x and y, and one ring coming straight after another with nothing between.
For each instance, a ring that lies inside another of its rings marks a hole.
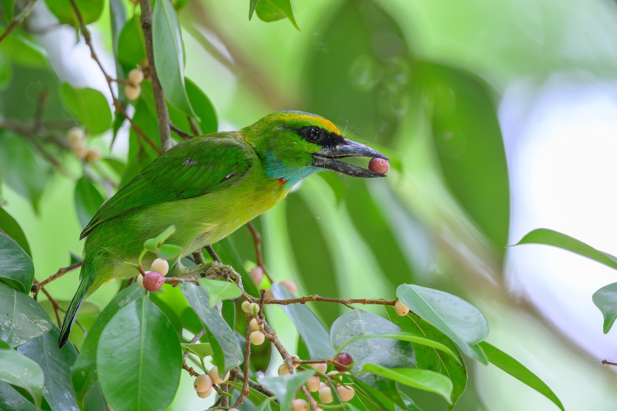
<instances>
[{"instance_id":1,"label":"bright light green leaf at lower right, right of the dark red berry","mask_svg":"<svg viewBox=\"0 0 617 411\"><path fill-rule=\"evenodd\" d=\"M385 368L368 363L364 364L362 370L381 375L413 388L439 394L445 398L445 401L452 404L452 399L450 399L452 396L452 381L438 372L420 370L418 368Z\"/></svg>"}]
</instances>

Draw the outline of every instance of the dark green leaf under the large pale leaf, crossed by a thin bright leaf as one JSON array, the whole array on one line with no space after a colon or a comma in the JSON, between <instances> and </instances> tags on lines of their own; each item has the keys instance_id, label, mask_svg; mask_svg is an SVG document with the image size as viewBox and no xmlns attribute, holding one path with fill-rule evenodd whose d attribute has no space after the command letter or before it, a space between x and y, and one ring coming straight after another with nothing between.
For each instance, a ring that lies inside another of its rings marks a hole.
<instances>
[{"instance_id":1,"label":"dark green leaf under the large pale leaf, crossed by a thin bright leaf","mask_svg":"<svg viewBox=\"0 0 617 411\"><path fill-rule=\"evenodd\" d=\"M462 396L467 386L467 368L463 362L463 357L456 348L450 338L433 327L425 320L416 317L415 315L405 315L400 317L394 311L394 307L385 307L390 320L398 325L406 332L410 332L417 335L424 335L431 340L439 341L450 348L456 359L450 356L444 356L437 349L429 346L416 345L415 353L418 360L418 368L424 370L433 370L447 376L452 381L452 404L455 404L460 396Z\"/></svg>"}]
</instances>

